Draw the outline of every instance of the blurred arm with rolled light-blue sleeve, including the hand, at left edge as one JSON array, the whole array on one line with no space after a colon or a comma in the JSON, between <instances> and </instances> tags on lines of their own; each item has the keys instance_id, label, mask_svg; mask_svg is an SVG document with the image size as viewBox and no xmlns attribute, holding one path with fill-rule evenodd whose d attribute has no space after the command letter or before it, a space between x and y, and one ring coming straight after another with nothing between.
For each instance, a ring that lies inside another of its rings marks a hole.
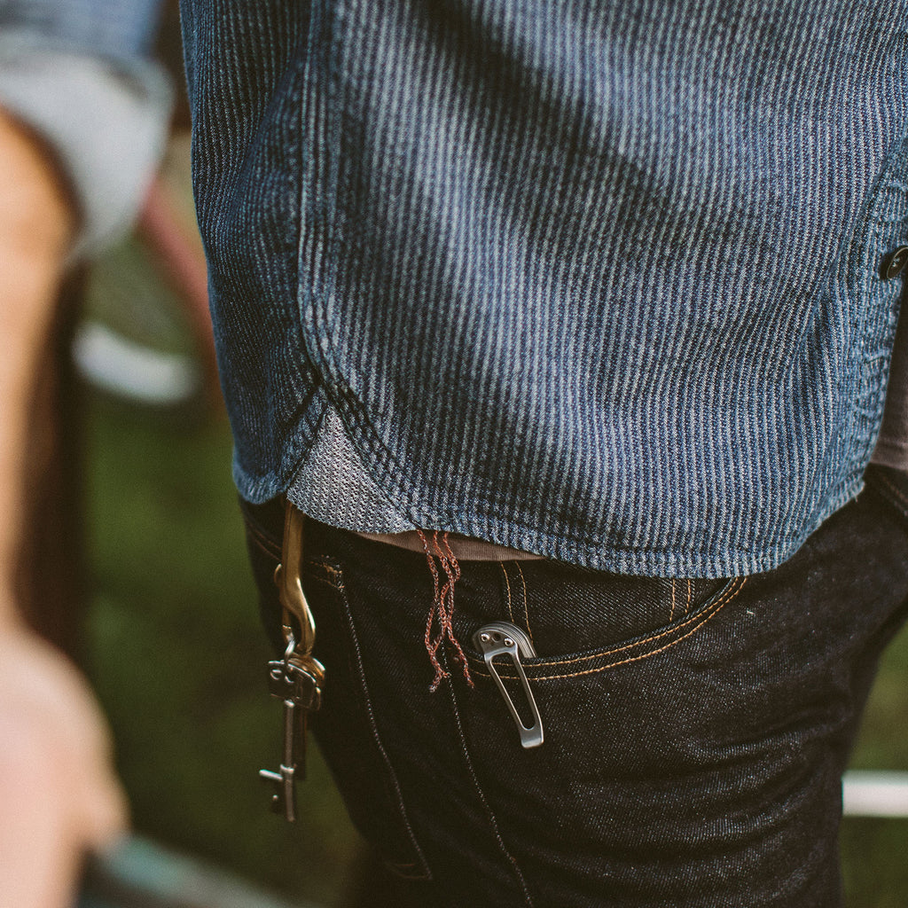
<instances>
[{"instance_id":1,"label":"blurred arm with rolled light-blue sleeve, including the hand, at left edge","mask_svg":"<svg viewBox=\"0 0 908 908\"><path fill-rule=\"evenodd\" d=\"M163 143L155 7L0 0L0 900L17 908L69 903L86 851L125 822L104 719L28 620L56 569L30 517L64 275L131 221Z\"/></svg>"}]
</instances>

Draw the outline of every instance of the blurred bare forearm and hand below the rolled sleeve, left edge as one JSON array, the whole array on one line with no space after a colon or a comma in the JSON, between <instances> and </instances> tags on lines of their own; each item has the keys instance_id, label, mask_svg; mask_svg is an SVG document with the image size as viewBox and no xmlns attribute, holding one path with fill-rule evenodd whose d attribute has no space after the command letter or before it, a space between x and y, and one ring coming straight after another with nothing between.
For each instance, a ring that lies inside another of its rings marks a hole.
<instances>
[{"instance_id":1,"label":"blurred bare forearm and hand below the rolled sleeve, left edge","mask_svg":"<svg viewBox=\"0 0 908 908\"><path fill-rule=\"evenodd\" d=\"M35 360L74 235L44 145L0 111L0 902L63 908L87 847L124 822L83 679L22 626L11 595Z\"/></svg>"}]
</instances>

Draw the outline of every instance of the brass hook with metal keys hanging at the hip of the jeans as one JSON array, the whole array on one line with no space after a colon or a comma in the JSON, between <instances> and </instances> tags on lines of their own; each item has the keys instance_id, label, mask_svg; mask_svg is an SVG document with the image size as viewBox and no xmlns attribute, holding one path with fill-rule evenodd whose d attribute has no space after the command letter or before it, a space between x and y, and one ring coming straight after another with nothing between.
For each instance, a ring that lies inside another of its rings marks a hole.
<instances>
[{"instance_id":1,"label":"brass hook with metal keys hanging at the hip of the jeans","mask_svg":"<svg viewBox=\"0 0 908 908\"><path fill-rule=\"evenodd\" d=\"M321 706L321 686L325 679L324 666L312 656L315 620L302 592L302 520L301 512L288 503L281 564L274 572L281 597L287 649L282 659L268 663L271 696L281 699L284 707L283 759L279 772L262 769L259 773L276 787L271 797L272 809L291 823L296 819L297 764L305 778L309 714ZM293 627L294 617L300 625L299 643Z\"/></svg>"}]
</instances>

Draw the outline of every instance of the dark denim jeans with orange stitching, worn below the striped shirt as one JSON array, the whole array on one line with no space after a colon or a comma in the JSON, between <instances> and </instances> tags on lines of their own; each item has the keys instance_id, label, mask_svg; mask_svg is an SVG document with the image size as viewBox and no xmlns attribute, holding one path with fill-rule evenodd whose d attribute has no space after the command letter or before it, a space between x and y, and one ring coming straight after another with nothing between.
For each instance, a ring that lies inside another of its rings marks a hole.
<instances>
[{"instance_id":1,"label":"dark denim jeans with orange stitching, worn below the striped shirt","mask_svg":"<svg viewBox=\"0 0 908 908\"><path fill-rule=\"evenodd\" d=\"M841 904L841 775L905 617L906 506L903 476L872 468L794 558L751 577L461 563L453 627L475 687L449 647L434 694L426 558L311 523L328 671L314 727L353 821L413 904ZM280 648L281 510L245 510ZM491 621L538 654L521 660L545 731L533 749L471 643Z\"/></svg>"}]
</instances>

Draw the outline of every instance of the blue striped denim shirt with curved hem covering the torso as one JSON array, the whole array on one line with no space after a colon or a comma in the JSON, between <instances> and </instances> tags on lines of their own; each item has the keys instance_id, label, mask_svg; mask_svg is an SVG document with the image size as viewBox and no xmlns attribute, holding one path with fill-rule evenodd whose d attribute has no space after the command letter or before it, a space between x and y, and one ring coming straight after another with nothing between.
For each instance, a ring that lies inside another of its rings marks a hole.
<instances>
[{"instance_id":1,"label":"blue striped denim shirt with curved hem covering the torso","mask_svg":"<svg viewBox=\"0 0 908 908\"><path fill-rule=\"evenodd\" d=\"M719 577L861 489L908 240L908 0L183 16L244 498Z\"/></svg>"}]
</instances>

